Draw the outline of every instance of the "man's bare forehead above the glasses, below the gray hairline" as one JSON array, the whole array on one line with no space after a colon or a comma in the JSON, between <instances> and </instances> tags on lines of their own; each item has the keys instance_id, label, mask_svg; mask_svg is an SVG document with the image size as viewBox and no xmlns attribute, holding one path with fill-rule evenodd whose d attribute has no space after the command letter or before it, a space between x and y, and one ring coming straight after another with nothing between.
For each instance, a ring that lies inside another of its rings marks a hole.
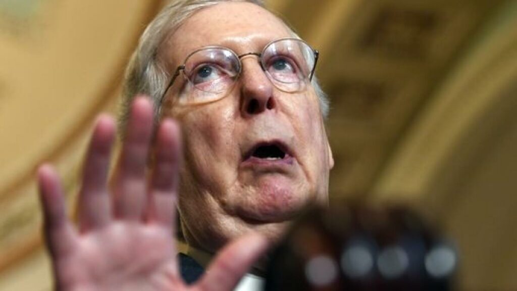
<instances>
[{"instance_id":1,"label":"man's bare forehead above the glasses, below the gray hairline","mask_svg":"<svg viewBox=\"0 0 517 291\"><path fill-rule=\"evenodd\" d=\"M243 5L250 8L245 9ZM208 28L200 29L204 27ZM213 27L218 30L214 32ZM283 37L292 37L290 28L266 9L252 3L219 3L203 8L185 20L166 38L160 55L166 55L166 65L175 68L196 49L219 46L237 54L260 52L270 41Z\"/></svg>"}]
</instances>

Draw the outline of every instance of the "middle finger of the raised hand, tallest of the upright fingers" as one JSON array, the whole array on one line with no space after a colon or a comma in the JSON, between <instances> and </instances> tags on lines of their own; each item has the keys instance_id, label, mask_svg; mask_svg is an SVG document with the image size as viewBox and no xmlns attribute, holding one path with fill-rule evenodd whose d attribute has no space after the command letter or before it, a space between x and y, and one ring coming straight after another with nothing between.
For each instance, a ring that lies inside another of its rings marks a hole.
<instances>
[{"instance_id":1,"label":"middle finger of the raised hand, tallest of the upright fingers","mask_svg":"<svg viewBox=\"0 0 517 291\"><path fill-rule=\"evenodd\" d=\"M138 97L131 105L115 177L114 210L119 218L142 218L146 203L145 167L152 132L153 106L145 97Z\"/></svg>"}]
</instances>

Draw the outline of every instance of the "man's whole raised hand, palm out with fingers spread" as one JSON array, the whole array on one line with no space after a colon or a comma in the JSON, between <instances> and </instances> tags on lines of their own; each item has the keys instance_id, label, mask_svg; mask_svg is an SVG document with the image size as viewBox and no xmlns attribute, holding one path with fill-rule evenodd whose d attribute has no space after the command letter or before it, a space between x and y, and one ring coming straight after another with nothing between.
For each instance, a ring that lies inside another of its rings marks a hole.
<instances>
[{"instance_id":1,"label":"man's whole raised hand, palm out with fingers spread","mask_svg":"<svg viewBox=\"0 0 517 291\"><path fill-rule=\"evenodd\" d=\"M264 237L250 234L226 246L198 284L181 280L174 238L179 128L173 120L161 122L148 175L152 132L152 105L136 98L110 193L115 123L107 115L98 118L84 165L78 228L68 219L54 169L39 168L45 240L57 290L232 290L267 249Z\"/></svg>"}]
</instances>

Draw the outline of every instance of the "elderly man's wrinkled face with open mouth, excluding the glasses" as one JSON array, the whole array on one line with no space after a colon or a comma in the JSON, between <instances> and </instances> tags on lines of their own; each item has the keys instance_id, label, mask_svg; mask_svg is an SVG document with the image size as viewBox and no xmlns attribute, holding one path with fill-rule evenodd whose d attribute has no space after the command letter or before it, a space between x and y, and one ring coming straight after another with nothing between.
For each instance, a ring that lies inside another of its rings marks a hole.
<instances>
[{"instance_id":1,"label":"elderly man's wrinkled face with open mouth, excluding the glasses","mask_svg":"<svg viewBox=\"0 0 517 291\"><path fill-rule=\"evenodd\" d=\"M164 43L160 57L174 71L202 47L226 47L240 55L261 52L285 37L291 37L286 26L263 8L221 3L190 17ZM242 73L223 99L170 106L185 90L186 80L178 78L165 102L167 114L183 129L179 211L184 232L189 243L207 251L249 229L275 239L300 207L327 202L333 161L312 86L280 91L257 56L241 61ZM261 146L278 148L285 156L263 158L254 153Z\"/></svg>"}]
</instances>

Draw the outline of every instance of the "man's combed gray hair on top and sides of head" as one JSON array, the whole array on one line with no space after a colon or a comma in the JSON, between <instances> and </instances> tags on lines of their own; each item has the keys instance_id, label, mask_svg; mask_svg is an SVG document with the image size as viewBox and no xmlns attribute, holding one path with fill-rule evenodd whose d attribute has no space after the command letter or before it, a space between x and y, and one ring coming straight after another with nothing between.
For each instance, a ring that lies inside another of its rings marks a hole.
<instances>
[{"instance_id":1,"label":"man's combed gray hair on top and sides of head","mask_svg":"<svg viewBox=\"0 0 517 291\"><path fill-rule=\"evenodd\" d=\"M262 0L175 0L166 5L145 29L126 68L119 111L120 128L125 126L133 98L140 94L147 95L153 100L155 121L158 121L160 99L170 78L170 72L165 70L158 58L162 42L196 11L221 2L249 2L265 8ZM290 30L293 36L299 38L291 28ZM326 118L329 111L327 96L315 76L312 78L312 84L320 99L321 112ZM123 130L120 133L123 133Z\"/></svg>"}]
</instances>

